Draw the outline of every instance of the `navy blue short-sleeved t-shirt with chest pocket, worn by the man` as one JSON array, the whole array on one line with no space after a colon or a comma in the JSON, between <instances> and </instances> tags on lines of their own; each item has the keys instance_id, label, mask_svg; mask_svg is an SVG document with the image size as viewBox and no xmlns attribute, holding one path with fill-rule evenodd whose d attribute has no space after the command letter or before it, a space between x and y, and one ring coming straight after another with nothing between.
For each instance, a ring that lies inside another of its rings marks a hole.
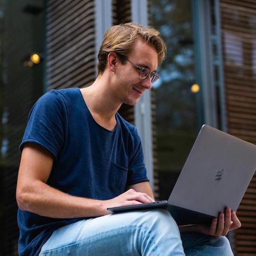
<instances>
[{"instance_id":1,"label":"navy blue short-sleeved t-shirt with chest pocket, worn by the man","mask_svg":"<svg viewBox=\"0 0 256 256\"><path fill-rule=\"evenodd\" d=\"M38 99L29 113L20 151L27 142L53 154L47 184L70 195L108 200L128 185L148 181L136 127L118 113L113 131L100 126L79 88L51 90ZM38 255L54 230L79 220L18 209L19 255Z\"/></svg>"}]
</instances>

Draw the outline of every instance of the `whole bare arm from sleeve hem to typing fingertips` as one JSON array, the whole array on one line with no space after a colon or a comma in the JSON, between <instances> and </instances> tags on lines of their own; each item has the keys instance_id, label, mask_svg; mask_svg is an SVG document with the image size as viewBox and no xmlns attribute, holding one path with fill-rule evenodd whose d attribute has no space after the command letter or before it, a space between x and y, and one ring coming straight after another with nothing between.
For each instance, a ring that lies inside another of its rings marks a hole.
<instances>
[{"instance_id":1,"label":"whole bare arm from sleeve hem to typing fingertips","mask_svg":"<svg viewBox=\"0 0 256 256\"><path fill-rule=\"evenodd\" d=\"M144 193L129 189L110 200L93 200L61 192L46 184L53 165L52 154L34 143L24 145L17 180L16 199L21 210L51 218L106 215L108 207L148 203Z\"/></svg>"}]
</instances>

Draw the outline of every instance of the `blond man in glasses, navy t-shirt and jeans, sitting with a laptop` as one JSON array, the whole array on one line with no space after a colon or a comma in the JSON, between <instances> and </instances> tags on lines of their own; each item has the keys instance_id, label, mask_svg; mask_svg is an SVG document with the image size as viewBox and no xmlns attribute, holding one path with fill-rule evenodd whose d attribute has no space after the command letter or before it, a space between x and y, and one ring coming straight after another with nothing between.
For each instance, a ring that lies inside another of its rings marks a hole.
<instances>
[{"instance_id":1,"label":"blond man in glasses, navy t-shirt and jeans, sitting with a laptop","mask_svg":"<svg viewBox=\"0 0 256 256\"><path fill-rule=\"evenodd\" d=\"M241 224L230 209L211 227L180 231L166 210L107 210L154 201L140 137L117 111L151 88L165 54L157 30L113 26L90 87L51 90L35 103L20 144L20 255L233 255L225 235Z\"/></svg>"}]
</instances>

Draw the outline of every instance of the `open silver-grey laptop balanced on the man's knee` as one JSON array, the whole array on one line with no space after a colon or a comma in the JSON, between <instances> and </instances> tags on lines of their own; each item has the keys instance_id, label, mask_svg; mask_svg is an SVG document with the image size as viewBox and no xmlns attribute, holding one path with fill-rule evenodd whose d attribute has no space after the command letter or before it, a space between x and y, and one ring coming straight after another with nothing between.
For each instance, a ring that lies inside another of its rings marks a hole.
<instances>
[{"instance_id":1,"label":"open silver-grey laptop balanced on the man's knee","mask_svg":"<svg viewBox=\"0 0 256 256\"><path fill-rule=\"evenodd\" d=\"M108 208L167 209L178 225L211 223L226 207L236 211L256 171L256 145L203 125L168 201Z\"/></svg>"}]
</instances>

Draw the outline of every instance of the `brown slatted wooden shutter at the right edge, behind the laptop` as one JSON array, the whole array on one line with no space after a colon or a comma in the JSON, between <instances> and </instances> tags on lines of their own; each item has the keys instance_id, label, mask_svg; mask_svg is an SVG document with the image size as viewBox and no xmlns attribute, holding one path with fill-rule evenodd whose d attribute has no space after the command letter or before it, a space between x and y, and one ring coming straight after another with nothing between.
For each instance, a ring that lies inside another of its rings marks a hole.
<instances>
[{"instance_id":1,"label":"brown slatted wooden shutter at the right edge, behind the laptop","mask_svg":"<svg viewBox=\"0 0 256 256\"><path fill-rule=\"evenodd\" d=\"M256 144L256 1L220 3L228 132ZM256 175L237 215L236 256L256 255Z\"/></svg>"}]
</instances>

